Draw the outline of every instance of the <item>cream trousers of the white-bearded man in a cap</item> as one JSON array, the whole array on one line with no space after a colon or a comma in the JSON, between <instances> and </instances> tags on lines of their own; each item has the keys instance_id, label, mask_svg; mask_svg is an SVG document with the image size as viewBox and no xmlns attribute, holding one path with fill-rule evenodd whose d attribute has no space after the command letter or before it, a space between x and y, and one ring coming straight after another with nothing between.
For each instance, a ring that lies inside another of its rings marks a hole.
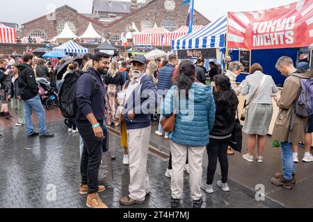
<instances>
[{"instance_id":1,"label":"cream trousers of the white-bearded man in a cap","mask_svg":"<svg viewBox=\"0 0 313 222\"><path fill-rule=\"evenodd\" d=\"M151 126L147 128L127 130L129 152L129 197L133 200L145 200L150 192L150 181L147 175L147 155Z\"/></svg>"}]
</instances>

